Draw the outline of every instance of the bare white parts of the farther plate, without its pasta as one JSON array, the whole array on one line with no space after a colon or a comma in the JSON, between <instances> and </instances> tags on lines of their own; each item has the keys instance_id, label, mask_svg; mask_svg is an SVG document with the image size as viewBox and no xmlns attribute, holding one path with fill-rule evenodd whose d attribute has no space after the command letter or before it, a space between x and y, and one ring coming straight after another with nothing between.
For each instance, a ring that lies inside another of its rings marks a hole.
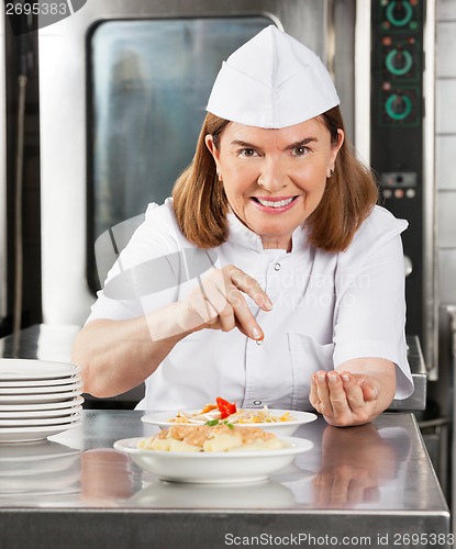
<instances>
[{"instance_id":1,"label":"bare white parts of the farther plate, without its pasta","mask_svg":"<svg viewBox=\"0 0 456 549\"><path fill-rule=\"evenodd\" d=\"M260 412L262 408L242 408L245 412ZM185 414L196 414L199 410L183 410ZM316 419L316 415L311 412L300 412L298 410L274 410L269 408L271 415L281 416L286 413L289 413L293 416L293 421L291 422L274 422L274 423L236 423L238 427L260 427L262 429L268 433L275 433L279 436L291 436L299 426L304 425L305 423L313 422ZM153 425L158 425L162 428L168 428L171 425L178 425L179 422L170 422L169 419L175 417L177 412L158 412L156 414L147 414L142 416L142 421L144 423L151 423ZM230 419L229 419L230 421ZM201 422L200 425L203 425L204 422ZM198 425L197 423L185 425Z\"/></svg>"}]
</instances>

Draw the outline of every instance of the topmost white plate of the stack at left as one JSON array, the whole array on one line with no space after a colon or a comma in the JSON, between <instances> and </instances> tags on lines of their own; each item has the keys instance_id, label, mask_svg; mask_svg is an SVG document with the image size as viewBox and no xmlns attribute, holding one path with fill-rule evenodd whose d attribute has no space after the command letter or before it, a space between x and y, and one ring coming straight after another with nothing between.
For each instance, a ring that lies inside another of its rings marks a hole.
<instances>
[{"instance_id":1,"label":"topmost white plate of the stack at left","mask_svg":"<svg viewBox=\"0 0 456 549\"><path fill-rule=\"evenodd\" d=\"M75 376L79 371L77 366L68 362L21 358L0 359L0 379L2 381L64 378Z\"/></svg>"}]
</instances>

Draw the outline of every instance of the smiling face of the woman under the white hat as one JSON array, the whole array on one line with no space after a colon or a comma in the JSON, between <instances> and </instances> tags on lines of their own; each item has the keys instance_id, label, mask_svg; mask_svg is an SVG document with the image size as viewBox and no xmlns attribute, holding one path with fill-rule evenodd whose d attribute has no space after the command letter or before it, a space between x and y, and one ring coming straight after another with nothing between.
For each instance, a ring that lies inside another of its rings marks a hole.
<instances>
[{"instance_id":1,"label":"smiling face of the woman under the white hat","mask_svg":"<svg viewBox=\"0 0 456 549\"><path fill-rule=\"evenodd\" d=\"M280 130L231 122L211 152L235 215L262 237L265 248L291 249L291 235L316 209L334 169L338 143L319 119Z\"/></svg>"}]
</instances>

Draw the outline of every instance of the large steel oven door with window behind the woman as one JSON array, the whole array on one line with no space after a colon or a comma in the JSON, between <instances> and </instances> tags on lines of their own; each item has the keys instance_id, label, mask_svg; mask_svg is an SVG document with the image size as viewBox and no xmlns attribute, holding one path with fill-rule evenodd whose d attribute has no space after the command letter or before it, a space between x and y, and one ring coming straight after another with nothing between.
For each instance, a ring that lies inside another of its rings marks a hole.
<instances>
[{"instance_id":1,"label":"large steel oven door with window behind the woman","mask_svg":"<svg viewBox=\"0 0 456 549\"><path fill-rule=\"evenodd\" d=\"M283 29L334 69L351 133L355 8L355 0L90 0L40 31L45 323L85 322L100 288L96 240L170 194L222 60L263 27Z\"/></svg>"}]
</instances>

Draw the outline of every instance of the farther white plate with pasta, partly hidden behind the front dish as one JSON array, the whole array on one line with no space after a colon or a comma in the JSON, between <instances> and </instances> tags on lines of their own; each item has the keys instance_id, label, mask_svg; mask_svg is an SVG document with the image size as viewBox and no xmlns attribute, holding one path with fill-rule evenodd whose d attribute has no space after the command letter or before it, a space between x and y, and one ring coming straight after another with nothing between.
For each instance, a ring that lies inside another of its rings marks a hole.
<instances>
[{"instance_id":1,"label":"farther white plate with pasta, partly hidden behind the front dish","mask_svg":"<svg viewBox=\"0 0 456 549\"><path fill-rule=\"evenodd\" d=\"M168 428L171 425L204 425L208 422L227 421L238 426L260 427L269 433L280 436L292 436L296 430L307 423L316 419L316 415L311 412L300 412L298 410L274 410L263 408L240 408L234 414L221 417L218 408L203 412L202 410L183 410L179 412L157 412L142 416L144 423Z\"/></svg>"}]
</instances>

